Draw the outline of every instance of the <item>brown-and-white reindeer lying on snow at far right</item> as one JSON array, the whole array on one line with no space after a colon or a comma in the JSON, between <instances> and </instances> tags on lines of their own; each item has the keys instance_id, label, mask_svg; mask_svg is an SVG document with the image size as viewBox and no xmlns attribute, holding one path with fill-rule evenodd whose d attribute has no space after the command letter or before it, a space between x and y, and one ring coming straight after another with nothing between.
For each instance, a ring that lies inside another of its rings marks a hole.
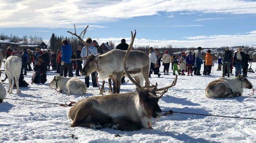
<instances>
[{"instance_id":1,"label":"brown-and-white reindeer lying on snow at far right","mask_svg":"<svg viewBox=\"0 0 256 143\"><path fill-rule=\"evenodd\" d=\"M237 97L243 94L243 88L252 89L253 85L247 80L245 75L239 74L234 78L219 78L208 84L205 95L208 98Z\"/></svg>"}]
</instances>

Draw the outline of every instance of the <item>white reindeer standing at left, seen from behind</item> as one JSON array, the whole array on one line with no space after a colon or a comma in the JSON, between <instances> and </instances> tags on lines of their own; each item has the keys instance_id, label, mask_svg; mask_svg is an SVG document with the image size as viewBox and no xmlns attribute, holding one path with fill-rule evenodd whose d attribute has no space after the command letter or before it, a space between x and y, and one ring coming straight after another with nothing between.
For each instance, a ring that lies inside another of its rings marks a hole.
<instances>
[{"instance_id":1,"label":"white reindeer standing at left, seen from behind","mask_svg":"<svg viewBox=\"0 0 256 143\"><path fill-rule=\"evenodd\" d=\"M17 93L21 93L19 89L19 76L21 72L21 59L16 56L9 56L6 59L5 62L5 72L7 73L7 76L9 78L9 86L8 86L8 91L9 94L13 93L13 86L14 86L14 78L15 78L15 83L17 86ZM11 85L12 81L12 85Z\"/></svg>"}]
</instances>

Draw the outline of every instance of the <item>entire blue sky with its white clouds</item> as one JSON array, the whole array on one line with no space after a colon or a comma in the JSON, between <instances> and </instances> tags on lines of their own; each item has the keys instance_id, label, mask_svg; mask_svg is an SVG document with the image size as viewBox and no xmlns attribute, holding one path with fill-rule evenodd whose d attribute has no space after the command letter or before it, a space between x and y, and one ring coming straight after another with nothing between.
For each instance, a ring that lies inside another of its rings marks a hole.
<instances>
[{"instance_id":1,"label":"entire blue sky with its white clouds","mask_svg":"<svg viewBox=\"0 0 256 143\"><path fill-rule=\"evenodd\" d=\"M99 43L122 38L134 45L221 47L256 45L256 1L249 0L0 0L0 33L71 36L87 25ZM11 4L10 4L11 3ZM8 10L6 10L8 7Z\"/></svg>"}]
</instances>

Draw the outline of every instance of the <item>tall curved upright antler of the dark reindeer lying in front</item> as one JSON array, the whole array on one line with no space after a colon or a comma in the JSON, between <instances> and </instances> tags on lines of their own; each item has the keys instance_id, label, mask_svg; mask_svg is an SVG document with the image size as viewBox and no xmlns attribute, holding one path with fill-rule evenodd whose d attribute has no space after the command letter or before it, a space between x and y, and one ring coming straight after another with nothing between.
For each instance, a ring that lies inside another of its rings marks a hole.
<instances>
[{"instance_id":1,"label":"tall curved upright antler of the dark reindeer lying in front","mask_svg":"<svg viewBox=\"0 0 256 143\"><path fill-rule=\"evenodd\" d=\"M131 49L132 49L132 45L133 45L133 42L134 42L134 39L135 39L135 36L136 36L136 30L135 30L135 32L134 32L134 35L133 35L133 32L132 32L132 31L131 31L131 33L132 33L132 39L131 39L131 43L130 43L130 45L129 45L129 47L128 47L128 50L126 51L126 54L125 54L124 59L123 59L123 68L124 68L125 74L126 74L127 77L132 81L132 83L133 83L136 87L138 87L138 88L141 89L141 85L140 85L139 83L137 83L137 82L131 77L131 75L127 72L127 68L126 68L126 59L127 59L128 55L129 55ZM143 90L143 89L141 89L141 90Z\"/></svg>"}]
</instances>

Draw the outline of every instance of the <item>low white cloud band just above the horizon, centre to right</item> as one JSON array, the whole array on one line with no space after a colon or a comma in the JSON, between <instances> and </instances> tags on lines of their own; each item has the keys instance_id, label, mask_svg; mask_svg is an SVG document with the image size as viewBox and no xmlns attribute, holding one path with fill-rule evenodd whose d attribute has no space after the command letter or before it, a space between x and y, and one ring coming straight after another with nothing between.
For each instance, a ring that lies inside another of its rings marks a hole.
<instances>
[{"instance_id":1,"label":"low white cloud band just above the horizon, centre to right","mask_svg":"<svg viewBox=\"0 0 256 143\"><path fill-rule=\"evenodd\" d=\"M256 31L252 31L252 34L242 34L242 35L210 35L210 36L195 36L195 37L185 37L189 40L151 40L151 39L135 39L134 45L158 45L159 47L167 46L167 44L173 47L221 47L221 46L232 46L232 45L255 45L256 44ZM255 32L255 33L254 33ZM110 37L110 38L100 38L100 43L112 40L115 45L119 44L121 39L126 39L129 43L131 37ZM95 39L95 38L94 38Z\"/></svg>"}]
</instances>

